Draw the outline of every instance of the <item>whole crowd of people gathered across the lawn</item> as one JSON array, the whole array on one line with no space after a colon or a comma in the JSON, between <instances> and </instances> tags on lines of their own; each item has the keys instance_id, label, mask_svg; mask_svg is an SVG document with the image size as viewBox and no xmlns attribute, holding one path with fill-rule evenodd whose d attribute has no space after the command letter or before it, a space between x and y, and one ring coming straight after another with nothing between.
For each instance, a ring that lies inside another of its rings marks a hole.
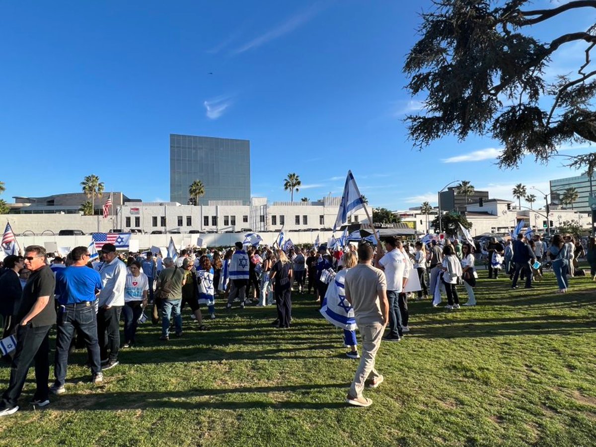
<instances>
[{"instance_id":1,"label":"whole crowd of people gathered across the lawn","mask_svg":"<svg viewBox=\"0 0 596 447\"><path fill-rule=\"evenodd\" d=\"M596 275L596 242L584 248L572 237L518 235L514 241L492 238L486 244L460 243L434 238L403 243L389 237L376 250L368 243L328 249L325 245L302 249L253 247L236 243L232 249L184 249L178 256L134 253L123 256L112 244L101 247L91 259L88 247L75 247L63 259L49 262L44 247L29 246L23 256L7 256L0 271L2 339L13 337L16 348L4 356L11 363L8 388L0 401L0 416L18 410L27 371L35 363L33 405L49 404L49 393L66 390L69 353L85 346L92 383L101 383L106 370L119 365L120 349L137 343L139 324L151 319L161 324L159 339L181 337L182 309L188 305L198 330L206 331L203 311L216 319L216 299L225 308L237 305L271 306L277 318L272 325L291 327L291 294L314 293L319 312L343 330L348 358L360 359L346 401L368 406L365 387L384 380L374 368L381 340L399 342L409 331L408 299L432 300L439 306L446 297L448 311L475 306L476 266L486 263L488 277L509 275L512 288L524 281L533 287L545 268L554 272L558 290L565 293L569 277L579 274L577 260L585 256ZM595 278L596 279L596 278ZM123 340L120 319L123 319ZM172 324L173 321L173 331ZM54 383L49 386L49 333L56 325ZM385 332L385 328L387 331ZM358 329L362 356L358 353Z\"/></svg>"}]
</instances>

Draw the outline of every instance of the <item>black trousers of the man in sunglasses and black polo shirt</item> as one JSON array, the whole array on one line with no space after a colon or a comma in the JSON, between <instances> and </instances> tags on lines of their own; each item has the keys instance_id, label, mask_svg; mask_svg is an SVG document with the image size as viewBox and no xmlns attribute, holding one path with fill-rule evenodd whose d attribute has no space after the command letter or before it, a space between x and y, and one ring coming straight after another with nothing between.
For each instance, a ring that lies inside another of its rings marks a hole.
<instances>
[{"instance_id":1,"label":"black trousers of the man in sunglasses and black polo shirt","mask_svg":"<svg viewBox=\"0 0 596 447\"><path fill-rule=\"evenodd\" d=\"M13 363L10 366L10 381L8 389L2 395L2 400L8 406L15 406L32 361L35 361L35 382L37 387L33 399L45 401L49 394L49 330L52 326L33 327L29 322L26 326L17 327L17 348Z\"/></svg>"}]
</instances>

